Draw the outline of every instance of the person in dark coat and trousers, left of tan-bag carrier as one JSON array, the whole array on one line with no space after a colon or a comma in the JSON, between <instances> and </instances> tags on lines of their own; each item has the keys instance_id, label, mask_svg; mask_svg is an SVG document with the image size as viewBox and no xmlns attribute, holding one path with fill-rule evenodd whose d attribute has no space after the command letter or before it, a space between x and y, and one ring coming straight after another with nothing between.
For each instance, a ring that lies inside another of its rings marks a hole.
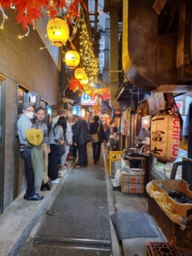
<instances>
[{"instance_id":1,"label":"person in dark coat and trousers, left of tan-bag carrier","mask_svg":"<svg viewBox=\"0 0 192 256\"><path fill-rule=\"evenodd\" d=\"M74 135L74 146L78 150L78 165L75 168L86 167L88 164L87 156L87 142L91 141L89 129L86 121L81 119L80 116L74 115L74 121L77 123Z\"/></svg>"}]
</instances>

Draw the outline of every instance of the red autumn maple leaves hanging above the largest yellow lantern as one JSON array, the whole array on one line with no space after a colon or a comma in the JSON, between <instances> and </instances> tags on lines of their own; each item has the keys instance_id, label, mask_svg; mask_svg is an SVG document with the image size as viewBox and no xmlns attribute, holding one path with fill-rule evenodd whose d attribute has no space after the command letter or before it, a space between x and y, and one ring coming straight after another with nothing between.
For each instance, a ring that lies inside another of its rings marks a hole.
<instances>
[{"instance_id":1,"label":"red autumn maple leaves hanging above the largest yellow lantern","mask_svg":"<svg viewBox=\"0 0 192 256\"><path fill-rule=\"evenodd\" d=\"M17 23L22 23L25 28L28 25L34 25L39 16L42 15L42 10L48 12L52 19L57 16L58 12L63 8L65 11L65 19L70 23L71 19L78 19L78 4L82 4L86 9L86 5L83 0L71 1L68 4L67 0L1 0L0 7L2 10L10 8L10 6L15 8Z\"/></svg>"}]
</instances>

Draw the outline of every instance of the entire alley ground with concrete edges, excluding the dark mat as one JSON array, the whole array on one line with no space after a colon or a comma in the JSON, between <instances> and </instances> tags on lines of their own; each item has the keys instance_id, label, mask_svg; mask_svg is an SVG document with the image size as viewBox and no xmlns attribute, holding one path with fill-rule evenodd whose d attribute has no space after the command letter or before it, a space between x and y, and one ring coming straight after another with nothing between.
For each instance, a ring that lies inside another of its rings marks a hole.
<instances>
[{"instance_id":1,"label":"entire alley ground with concrete edges, excluding the dark mat","mask_svg":"<svg viewBox=\"0 0 192 256\"><path fill-rule=\"evenodd\" d=\"M145 256L148 241L164 241L147 212L145 196L112 191L107 148L102 148L103 157L97 165L92 161L91 144L88 148L88 167L77 170L68 161L70 169L62 171L63 177L53 190L43 192L44 200L26 201L21 194L4 211L0 217L0 229L4 230L1 255ZM118 241L109 217L118 211L144 213L156 236Z\"/></svg>"}]
</instances>

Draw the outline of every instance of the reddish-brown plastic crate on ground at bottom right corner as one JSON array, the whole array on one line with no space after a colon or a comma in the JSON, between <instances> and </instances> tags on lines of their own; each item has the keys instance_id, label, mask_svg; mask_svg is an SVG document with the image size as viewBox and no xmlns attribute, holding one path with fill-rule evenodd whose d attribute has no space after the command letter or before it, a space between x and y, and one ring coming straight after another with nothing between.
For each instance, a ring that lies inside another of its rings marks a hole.
<instances>
[{"instance_id":1,"label":"reddish-brown plastic crate on ground at bottom right corner","mask_svg":"<svg viewBox=\"0 0 192 256\"><path fill-rule=\"evenodd\" d=\"M170 248L167 242L147 243L147 256L183 256L182 252Z\"/></svg>"}]
</instances>

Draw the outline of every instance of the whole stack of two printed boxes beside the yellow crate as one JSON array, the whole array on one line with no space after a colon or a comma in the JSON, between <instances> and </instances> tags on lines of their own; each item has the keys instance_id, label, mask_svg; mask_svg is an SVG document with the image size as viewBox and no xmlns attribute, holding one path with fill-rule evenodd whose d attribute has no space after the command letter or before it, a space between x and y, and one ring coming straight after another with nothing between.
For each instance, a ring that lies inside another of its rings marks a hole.
<instances>
[{"instance_id":1,"label":"whole stack of two printed boxes beside the yellow crate","mask_svg":"<svg viewBox=\"0 0 192 256\"><path fill-rule=\"evenodd\" d=\"M140 168L129 168L121 170L121 192L142 194L144 193L144 170Z\"/></svg>"}]
</instances>

